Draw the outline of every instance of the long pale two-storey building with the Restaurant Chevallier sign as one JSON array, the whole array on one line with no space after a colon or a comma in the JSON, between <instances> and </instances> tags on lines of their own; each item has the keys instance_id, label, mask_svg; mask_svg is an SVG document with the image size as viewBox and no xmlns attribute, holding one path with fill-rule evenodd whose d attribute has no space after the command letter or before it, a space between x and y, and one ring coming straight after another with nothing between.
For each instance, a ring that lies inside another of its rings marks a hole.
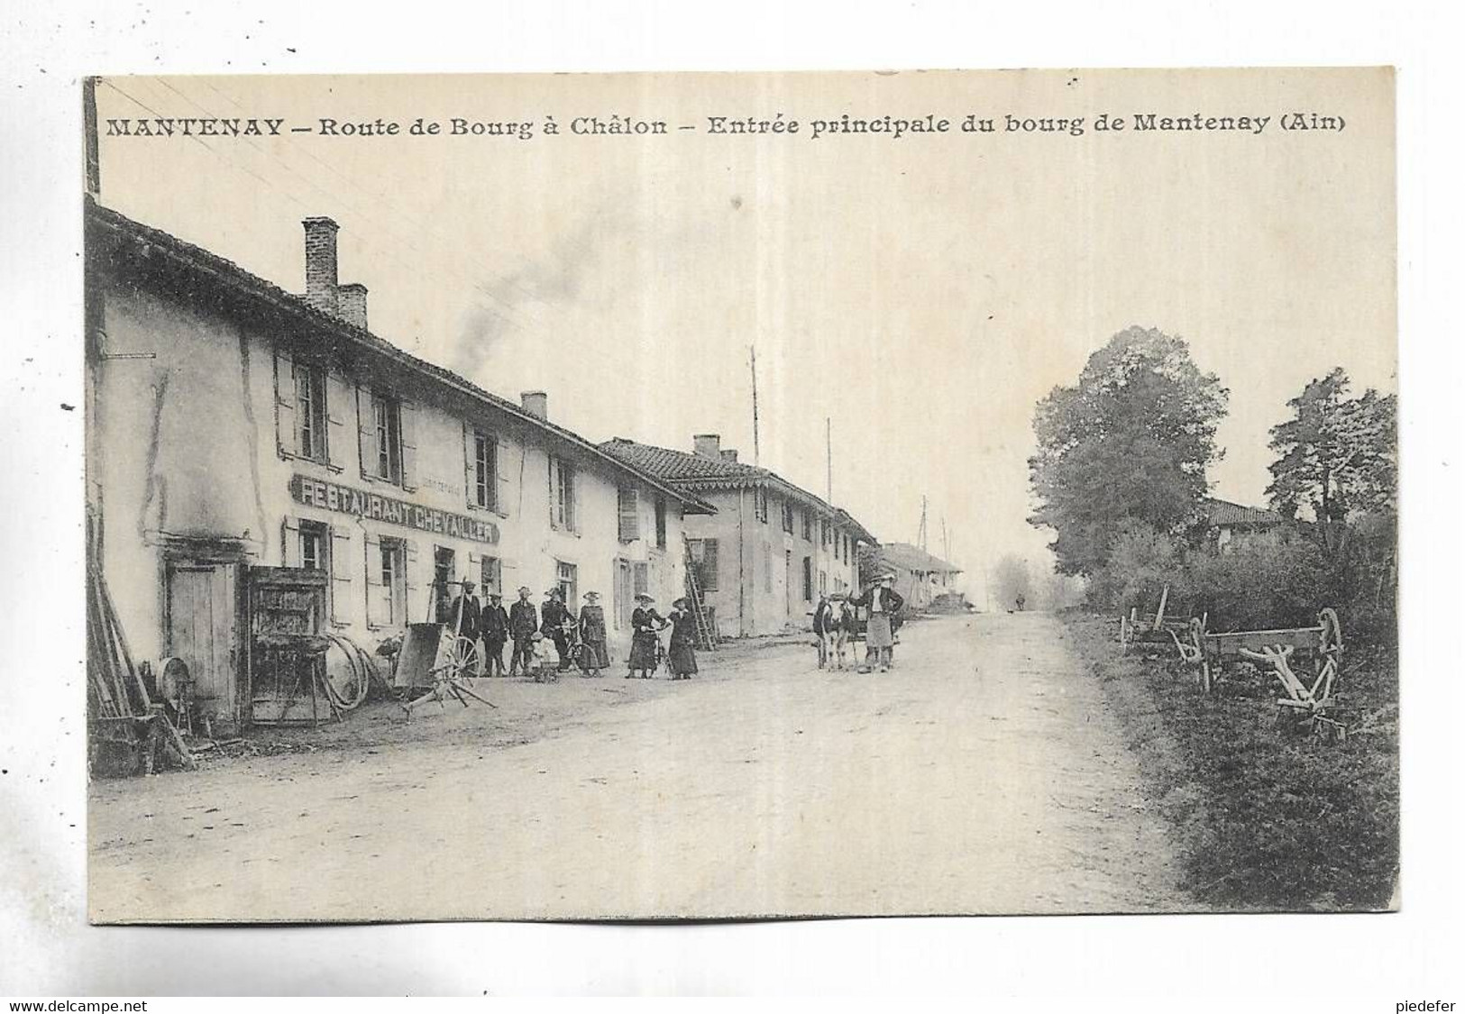
<instances>
[{"instance_id":1,"label":"long pale two-storey building with the Restaurant Chevallier sign","mask_svg":"<svg viewBox=\"0 0 1465 1014\"><path fill-rule=\"evenodd\" d=\"M450 582L602 593L614 652L639 591L684 583L697 497L366 328L335 224L306 292L88 204L88 513L139 659L182 658L205 717L249 722L251 569L324 571L327 630L368 654L442 618Z\"/></svg>"}]
</instances>

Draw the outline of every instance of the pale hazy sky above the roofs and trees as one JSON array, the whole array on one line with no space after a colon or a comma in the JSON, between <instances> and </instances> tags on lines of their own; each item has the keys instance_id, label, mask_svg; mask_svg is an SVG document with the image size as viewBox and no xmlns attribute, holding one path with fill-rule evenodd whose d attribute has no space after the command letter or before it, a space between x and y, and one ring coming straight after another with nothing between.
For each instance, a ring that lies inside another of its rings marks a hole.
<instances>
[{"instance_id":1,"label":"pale hazy sky above the roofs and trees","mask_svg":"<svg viewBox=\"0 0 1465 1014\"><path fill-rule=\"evenodd\" d=\"M1383 70L113 78L97 103L104 205L296 292L300 220L330 215L372 331L505 397L545 390L590 440L718 432L753 460L756 347L759 463L823 495L828 419L834 501L914 541L924 497L930 549L979 595L1002 555L1047 566L1052 533L1026 520L1033 407L1116 331L1185 338L1231 390L1210 478L1247 504L1308 380L1396 385ZM1343 130L1280 129L1314 111ZM801 130L706 129L779 113ZM1100 132L1100 113L1270 119ZM812 136L844 114L951 129ZM107 136L154 116L287 126ZM570 132L612 116L668 132ZM322 117L403 133L322 136ZM410 135L418 117L442 133ZM533 136L453 136L453 117Z\"/></svg>"}]
</instances>

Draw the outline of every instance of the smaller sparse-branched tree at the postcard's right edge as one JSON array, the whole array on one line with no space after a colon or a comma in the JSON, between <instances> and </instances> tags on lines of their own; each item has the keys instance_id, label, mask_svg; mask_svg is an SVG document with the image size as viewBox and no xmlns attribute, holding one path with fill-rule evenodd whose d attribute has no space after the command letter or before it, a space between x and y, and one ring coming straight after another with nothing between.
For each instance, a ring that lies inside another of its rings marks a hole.
<instances>
[{"instance_id":1,"label":"smaller sparse-branched tree at the postcard's right edge","mask_svg":"<svg viewBox=\"0 0 1465 1014\"><path fill-rule=\"evenodd\" d=\"M1348 397L1342 366L1288 401L1292 418L1272 428L1267 497L1286 517L1343 522L1392 511L1398 495L1398 399L1368 388Z\"/></svg>"}]
</instances>

